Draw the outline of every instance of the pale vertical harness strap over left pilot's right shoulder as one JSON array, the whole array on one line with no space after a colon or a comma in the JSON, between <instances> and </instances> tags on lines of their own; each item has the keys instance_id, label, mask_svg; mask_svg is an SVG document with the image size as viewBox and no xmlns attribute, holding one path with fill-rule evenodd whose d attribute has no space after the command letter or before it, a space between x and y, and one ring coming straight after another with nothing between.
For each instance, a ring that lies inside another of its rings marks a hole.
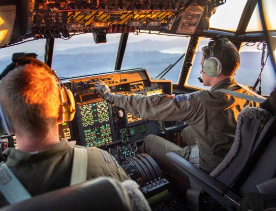
<instances>
[{"instance_id":1,"label":"pale vertical harness strap over left pilot's right shoulder","mask_svg":"<svg viewBox=\"0 0 276 211\"><path fill-rule=\"evenodd\" d=\"M70 186L85 182L86 174L87 174L87 149L83 147L75 146Z\"/></svg>"}]
</instances>

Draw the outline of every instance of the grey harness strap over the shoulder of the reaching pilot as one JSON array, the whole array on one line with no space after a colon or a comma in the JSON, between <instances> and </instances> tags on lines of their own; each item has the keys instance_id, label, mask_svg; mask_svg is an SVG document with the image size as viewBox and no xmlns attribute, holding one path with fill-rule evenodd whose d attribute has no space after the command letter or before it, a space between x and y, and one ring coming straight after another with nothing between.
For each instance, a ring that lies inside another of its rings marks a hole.
<instances>
[{"instance_id":1,"label":"grey harness strap over the shoulder of the reaching pilot","mask_svg":"<svg viewBox=\"0 0 276 211\"><path fill-rule=\"evenodd\" d=\"M237 85L240 86L241 88L246 89L246 91L250 92L251 94L255 95L256 97L251 96L251 95L246 95L246 94L243 94L243 93L237 93L237 92L231 91L229 89L225 89L225 88L219 88L217 90L214 90L213 92L225 93L227 95L232 95L232 96L244 99L244 100L249 100L249 101L253 101L253 102L257 102L257 103L262 103L266 99L263 96L258 95L254 91L250 90L250 88L248 88L247 86L244 86L244 85L239 84L239 83L237 83Z\"/></svg>"}]
</instances>

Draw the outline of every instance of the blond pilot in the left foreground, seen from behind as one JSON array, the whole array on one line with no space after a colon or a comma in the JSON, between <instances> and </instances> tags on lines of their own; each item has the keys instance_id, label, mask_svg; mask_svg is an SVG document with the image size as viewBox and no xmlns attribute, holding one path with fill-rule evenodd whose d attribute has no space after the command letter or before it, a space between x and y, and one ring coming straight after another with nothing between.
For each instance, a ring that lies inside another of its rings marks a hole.
<instances>
[{"instance_id":1,"label":"blond pilot in the left foreground, seen from behind","mask_svg":"<svg viewBox=\"0 0 276 211\"><path fill-rule=\"evenodd\" d=\"M6 149L3 155L6 165L32 196L69 186L75 145L74 141L59 140L60 88L47 70L50 68L42 64L32 58L8 72L0 83L2 110L10 119L18 147ZM99 176L121 182L129 179L110 154L89 147L86 179ZM0 206L5 204L1 194Z\"/></svg>"}]
</instances>

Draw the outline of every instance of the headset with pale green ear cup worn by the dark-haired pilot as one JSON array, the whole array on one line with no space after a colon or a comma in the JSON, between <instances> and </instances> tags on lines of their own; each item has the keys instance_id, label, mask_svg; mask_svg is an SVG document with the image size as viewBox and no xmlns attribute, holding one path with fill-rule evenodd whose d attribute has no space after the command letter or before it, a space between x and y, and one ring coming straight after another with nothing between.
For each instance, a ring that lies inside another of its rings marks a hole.
<instances>
[{"instance_id":1,"label":"headset with pale green ear cup worn by the dark-haired pilot","mask_svg":"<svg viewBox=\"0 0 276 211\"><path fill-rule=\"evenodd\" d=\"M210 49L210 56L207 57L202 65L202 72L209 77L216 77L222 73L222 63L219 58L214 57L214 51L218 51L222 44L230 42L227 38L221 38L221 36L214 36L208 43Z\"/></svg>"}]
</instances>

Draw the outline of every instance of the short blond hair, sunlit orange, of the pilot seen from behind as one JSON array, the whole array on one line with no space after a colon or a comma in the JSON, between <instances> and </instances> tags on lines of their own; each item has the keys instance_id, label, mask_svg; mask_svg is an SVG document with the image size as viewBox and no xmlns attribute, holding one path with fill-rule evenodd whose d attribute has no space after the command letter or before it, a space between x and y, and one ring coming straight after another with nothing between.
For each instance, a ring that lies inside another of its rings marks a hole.
<instances>
[{"instance_id":1,"label":"short blond hair, sunlit orange, of the pilot seen from behind","mask_svg":"<svg viewBox=\"0 0 276 211\"><path fill-rule=\"evenodd\" d=\"M35 64L16 67L2 79L0 101L15 132L26 135L50 132L61 105L56 80Z\"/></svg>"}]
</instances>

